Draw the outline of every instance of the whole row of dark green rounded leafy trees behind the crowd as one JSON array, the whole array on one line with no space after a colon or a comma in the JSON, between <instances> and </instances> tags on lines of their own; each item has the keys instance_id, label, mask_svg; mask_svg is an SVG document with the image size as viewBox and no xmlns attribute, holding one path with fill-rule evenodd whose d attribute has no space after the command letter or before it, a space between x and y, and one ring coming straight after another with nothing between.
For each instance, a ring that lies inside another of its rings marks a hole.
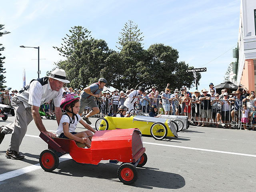
<instances>
[{"instance_id":1,"label":"whole row of dark green rounded leafy trees behind the crowd","mask_svg":"<svg viewBox=\"0 0 256 192\"><path fill-rule=\"evenodd\" d=\"M194 86L193 74L186 73L193 67L184 61L178 62L178 51L171 46L153 44L144 50L139 41L127 40L121 44L122 50L116 52L109 49L104 40L84 38L74 42L77 42L73 44L74 47L66 49L72 50L70 56L56 63L58 68L66 71L70 81L68 86L72 88L83 89L100 77L108 80L106 86L118 90L137 89L138 86L150 90L156 86L162 91L167 83L170 83L172 91L182 86ZM197 78L200 80L200 73Z\"/></svg>"}]
</instances>

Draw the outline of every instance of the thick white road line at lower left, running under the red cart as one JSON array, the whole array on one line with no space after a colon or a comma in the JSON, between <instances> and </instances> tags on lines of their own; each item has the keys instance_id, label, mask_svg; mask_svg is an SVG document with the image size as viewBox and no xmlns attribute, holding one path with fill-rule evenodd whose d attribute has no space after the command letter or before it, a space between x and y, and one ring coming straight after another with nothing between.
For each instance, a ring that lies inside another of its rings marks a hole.
<instances>
[{"instance_id":1,"label":"thick white road line at lower left, running under the red cart","mask_svg":"<svg viewBox=\"0 0 256 192\"><path fill-rule=\"evenodd\" d=\"M66 154L66 155L60 157L59 159L60 159L60 162L62 162L62 161L72 159L72 157L69 154ZM38 163L35 165L27 166L27 167L24 167L21 169L17 169L17 170L13 170L13 171L10 171L7 173L0 174L0 182L4 181L6 179L14 178L16 176L20 176L20 175L28 173L28 172L32 172L32 171L40 169L40 168L41 168L41 166Z\"/></svg>"}]
</instances>

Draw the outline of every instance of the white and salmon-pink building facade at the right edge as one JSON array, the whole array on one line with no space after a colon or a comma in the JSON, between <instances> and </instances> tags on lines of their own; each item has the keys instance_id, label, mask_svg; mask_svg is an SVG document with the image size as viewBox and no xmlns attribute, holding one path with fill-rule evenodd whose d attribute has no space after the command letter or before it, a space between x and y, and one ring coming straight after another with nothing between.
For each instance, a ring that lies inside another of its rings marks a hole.
<instances>
[{"instance_id":1,"label":"white and salmon-pink building facade at the right edge","mask_svg":"<svg viewBox=\"0 0 256 192\"><path fill-rule=\"evenodd\" d=\"M231 81L256 90L256 0L241 0L238 47L233 57Z\"/></svg>"}]
</instances>

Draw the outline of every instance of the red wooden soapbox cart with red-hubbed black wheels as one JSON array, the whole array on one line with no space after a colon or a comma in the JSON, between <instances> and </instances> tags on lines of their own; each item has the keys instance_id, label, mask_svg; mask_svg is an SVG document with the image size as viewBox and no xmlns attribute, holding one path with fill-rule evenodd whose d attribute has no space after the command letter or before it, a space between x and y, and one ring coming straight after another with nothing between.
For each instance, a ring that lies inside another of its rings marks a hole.
<instances>
[{"instance_id":1,"label":"red wooden soapbox cart with red-hubbed black wheels","mask_svg":"<svg viewBox=\"0 0 256 192\"><path fill-rule=\"evenodd\" d=\"M132 184L138 178L136 166L144 166L148 159L138 128L97 131L92 137L91 148L80 148L74 140L51 138L42 132L40 137L48 144L48 149L39 156L40 166L47 172L58 167L61 155L69 153L78 163L122 162L117 171L118 178L124 184Z\"/></svg>"}]
</instances>

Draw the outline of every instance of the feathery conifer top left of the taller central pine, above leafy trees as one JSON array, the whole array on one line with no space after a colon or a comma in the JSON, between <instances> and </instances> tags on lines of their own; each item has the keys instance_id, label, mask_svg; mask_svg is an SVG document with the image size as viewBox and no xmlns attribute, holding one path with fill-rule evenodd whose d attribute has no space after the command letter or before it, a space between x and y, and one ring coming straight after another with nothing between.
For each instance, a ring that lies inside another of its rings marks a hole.
<instances>
[{"instance_id":1,"label":"feathery conifer top left of the taller central pine, above leafy trees","mask_svg":"<svg viewBox=\"0 0 256 192\"><path fill-rule=\"evenodd\" d=\"M88 39L90 37L90 31L88 31L86 28L83 28L82 26L74 26L71 27L72 30L69 30L71 35L66 34L68 36L68 39L64 37L63 43L61 44L62 47L53 47L54 49L58 50L60 52L60 55L64 57L69 57L74 52L76 45L79 42L82 42L85 39Z\"/></svg>"}]
</instances>

